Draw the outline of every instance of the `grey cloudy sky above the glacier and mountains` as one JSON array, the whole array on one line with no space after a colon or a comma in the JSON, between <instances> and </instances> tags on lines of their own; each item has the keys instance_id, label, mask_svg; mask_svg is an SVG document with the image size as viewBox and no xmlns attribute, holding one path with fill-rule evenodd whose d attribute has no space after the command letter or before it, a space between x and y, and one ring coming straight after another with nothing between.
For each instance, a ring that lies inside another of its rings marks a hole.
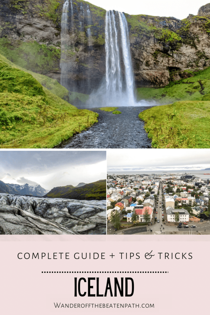
<instances>
[{"instance_id":1,"label":"grey cloudy sky above the glacier and mountains","mask_svg":"<svg viewBox=\"0 0 210 315\"><path fill-rule=\"evenodd\" d=\"M0 151L0 180L49 190L106 178L105 151Z\"/></svg>"}]
</instances>

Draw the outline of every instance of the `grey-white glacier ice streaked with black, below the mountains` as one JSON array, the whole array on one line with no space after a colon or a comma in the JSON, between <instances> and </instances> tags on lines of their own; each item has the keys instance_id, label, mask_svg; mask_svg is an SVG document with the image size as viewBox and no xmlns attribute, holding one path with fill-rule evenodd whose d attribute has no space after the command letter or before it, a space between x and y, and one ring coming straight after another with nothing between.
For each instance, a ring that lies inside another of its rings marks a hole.
<instances>
[{"instance_id":1,"label":"grey-white glacier ice streaked with black, below the mountains","mask_svg":"<svg viewBox=\"0 0 210 315\"><path fill-rule=\"evenodd\" d=\"M0 234L105 234L106 201L0 193Z\"/></svg>"}]
</instances>

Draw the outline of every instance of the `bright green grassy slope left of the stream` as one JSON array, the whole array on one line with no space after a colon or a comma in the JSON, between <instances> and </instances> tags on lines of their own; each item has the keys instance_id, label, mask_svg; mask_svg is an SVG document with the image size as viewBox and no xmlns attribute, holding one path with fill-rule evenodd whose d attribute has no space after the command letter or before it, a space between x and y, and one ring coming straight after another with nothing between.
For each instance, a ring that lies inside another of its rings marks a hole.
<instances>
[{"instance_id":1,"label":"bright green grassy slope left of the stream","mask_svg":"<svg viewBox=\"0 0 210 315\"><path fill-rule=\"evenodd\" d=\"M0 55L0 148L51 148L97 121L5 61Z\"/></svg>"}]
</instances>

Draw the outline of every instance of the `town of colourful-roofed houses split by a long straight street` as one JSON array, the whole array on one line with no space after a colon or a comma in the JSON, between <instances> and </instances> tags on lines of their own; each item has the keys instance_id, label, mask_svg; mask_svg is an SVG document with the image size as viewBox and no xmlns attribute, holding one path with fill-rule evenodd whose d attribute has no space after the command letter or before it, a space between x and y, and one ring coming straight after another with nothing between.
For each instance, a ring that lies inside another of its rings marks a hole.
<instances>
[{"instance_id":1,"label":"town of colourful-roofed houses split by a long straight street","mask_svg":"<svg viewBox=\"0 0 210 315\"><path fill-rule=\"evenodd\" d=\"M210 234L209 220L209 180L197 174L107 175L107 234Z\"/></svg>"}]
</instances>

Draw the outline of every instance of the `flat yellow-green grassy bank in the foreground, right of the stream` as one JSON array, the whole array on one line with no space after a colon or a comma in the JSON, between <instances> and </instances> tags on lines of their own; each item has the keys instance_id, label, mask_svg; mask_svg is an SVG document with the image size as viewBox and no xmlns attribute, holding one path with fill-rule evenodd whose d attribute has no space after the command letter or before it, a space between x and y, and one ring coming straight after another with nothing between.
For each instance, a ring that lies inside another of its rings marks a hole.
<instances>
[{"instance_id":1,"label":"flat yellow-green grassy bank in the foreground, right of the stream","mask_svg":"<svg viewBox=\"0 0 210 315\"><path fill-rule=\"evenodd\" d=\"M210 101L180 101L139 114L154 148L210 148Z\"/></svg>"}]
</instances>

